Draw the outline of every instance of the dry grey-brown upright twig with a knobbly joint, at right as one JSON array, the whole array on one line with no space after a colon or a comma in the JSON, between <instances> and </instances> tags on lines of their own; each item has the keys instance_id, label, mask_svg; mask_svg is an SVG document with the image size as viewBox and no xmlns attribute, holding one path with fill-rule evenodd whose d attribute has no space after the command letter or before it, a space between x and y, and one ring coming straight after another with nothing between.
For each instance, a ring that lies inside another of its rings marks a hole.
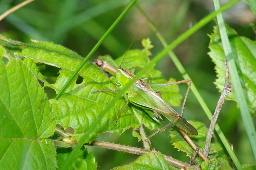
<instances>
[{"instance_id":1,"label":"dry grey-brown upright twig with a knobbly joint, at right","mask_svg":"<svg viewBox=\"0 0 256 170\"><path fill-rule=\"evenodd\" d=\"M210 150L210 144L211 144L211 139L212 139L212 135L214 132L214 127L215 124L217 122L218 116L219 116L219 112L221 111L222 105L226 99L226 97L228 96L228 94L233 90L231 87L231 82L228 82L228 78L229 78L229 71L228 71L228 66L227 66L227 61L225 61L225 70L226 70L226 76L225 76L225 85L221 94L221 97L219 97L219 101L217 103L217 106L215 108L212 120L211 120L211 124L210 124L210 128L206 137L206 141L205 141L205 146L204 146L204 155L208 156L209 150Z\"/></svg>"}]
</instances>

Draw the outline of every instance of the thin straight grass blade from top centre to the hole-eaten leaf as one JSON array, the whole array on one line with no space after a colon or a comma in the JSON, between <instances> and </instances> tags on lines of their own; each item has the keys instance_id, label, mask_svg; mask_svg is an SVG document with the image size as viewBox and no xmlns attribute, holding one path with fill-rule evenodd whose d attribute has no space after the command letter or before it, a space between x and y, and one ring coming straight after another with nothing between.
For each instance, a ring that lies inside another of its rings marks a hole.
<instances>
[{"instance_id":1,"label":"thin straight grass blade from top centre to the hole-eaten leaf","mask_svg":"<svg viewBox=\"0 0 256 170\"><path fill-rule=\"evenodd\" d=\"M118 22L123 19L125 14L130 10L130 8L134 5L134 3L137 0L132 0L132 2L125 8L125 10L122 12L122 14L119 15L119 17L115 20L115 22L110 26L110 28L105 32L105 34L101 37L101 39L98 41L98 43L94 46L93 49L88 53L88 55L85 57L84 61L80 64L80 66L75 70L75 72L71 75L67 83L60 89L59 93L55 97L55 99L59 99L63 91L68 87L70 82L74 79L74 77L77 75L77 73L82 69L84 64L89 60L89 58L93 55L93 53L99 48L101 43L104 41L104 39L111 33L111 31L116 27Z\"/></svg>"}]
</instances>

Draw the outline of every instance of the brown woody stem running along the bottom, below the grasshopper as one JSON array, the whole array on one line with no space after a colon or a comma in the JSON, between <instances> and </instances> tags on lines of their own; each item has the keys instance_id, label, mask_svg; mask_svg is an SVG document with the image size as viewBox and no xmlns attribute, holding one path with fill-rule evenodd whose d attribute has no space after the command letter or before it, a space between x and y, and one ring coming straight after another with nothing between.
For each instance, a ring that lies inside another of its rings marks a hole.
<instances>
[{"instance_id":1,"label":"brown woody stem running along the bottom, below the grasshopper","mask_svg":"<svg viewBox=\"0 0 256 170\"><path fill-rule=\"evenodd\" d=\"M147 149L129 147L129 146L124 146L124 145L119 145L116 143L102 142L102 141L96 141L96 140L93 140L90 143L86 143L85 145L100 147L100 148L105 148L105 149L112 149L112 150L116 150L116 151L123 151L123 152L133 153L133 154L137 154L137 155L143 155L145 153L152 152L151 150L147 150ZM179 167L179 168L188 168L189 167L189 168L193 168L193 169L199 169L199 166L191 166L189 164L186 164L184 162L176 160L170 156L163 155L163 157L166 159L168 164L173 165L175 167Z\"/></svg>"}]
</instances>

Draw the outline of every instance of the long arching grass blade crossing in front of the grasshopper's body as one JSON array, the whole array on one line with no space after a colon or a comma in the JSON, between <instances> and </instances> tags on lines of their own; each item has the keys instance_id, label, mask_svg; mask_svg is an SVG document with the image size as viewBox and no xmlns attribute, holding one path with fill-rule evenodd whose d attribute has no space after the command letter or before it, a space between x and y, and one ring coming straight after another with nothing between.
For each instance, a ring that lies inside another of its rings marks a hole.
<instances>
[{"instance_id":1,"label":"long arching grass blade crossing in front of the grasshopper's body","mask_svg":"<svg viewBox=\"0 0 256 170\"><path fill-rule=\"evenodd\" d=\"M239 0L232 0L229 3L227 3L226 5L222 6L219 10L207 15L206 17L204 17L202 20L200 20L198 23L196 23L192 28L190 28L189 30L187 30L185 33L183 33L179 38L177 38L176 40L174 40L167 48L163 49L160 53L158 53L158 55L156 55L153 60L148 63L148 65L146 65L141 71L138 72L138 74L136 75L136 77L134 77L134 79L130 80L129 83L127 83L127 85L116 94L116 96L114 97L114 99L108 104L108 106L106 106L103 111L99 114L99 116L97 117L97 119L93 122L93 124L91 124L91 126L89 127L89 129L85 132L85 134L82 136L81 140L77 143L77 145L75 146L75 148L73 149L73 151L71 152L70 156L68 157L68 159L66 160L66 163L64 165L64 167L62 167L63 169L65 169L65 167L67 167L71 161L72 158L74 157L74 155L79 151L79 149L83 146L84 141L86 140L87 136L93 132L93 130L95 129L96 125L99 123L99 121L103 118L103 116L105 115L106 112L108 112L110 110L110 108L116 103L116 101L122 97L122 95L126 92L126 90L128 90L130 88L130 86L138 79L140 78L149 68L152 68L155 63L157 63L159 60L161 60L161 58L163 58L170 50L172 50L173 48L175 48L177 45L181 44L186 38L188 38L190 35L192 35L193 33L195 33L197 30L199 30L201 27L203 27L205 24L207 24L208 22L210 22L213 18L215 18L215 16L222 11L225 11L226 9L228 9L229 7L231 7L233 4L235 4L236 2L238 2Z\"/></svg>"}]
</instances>

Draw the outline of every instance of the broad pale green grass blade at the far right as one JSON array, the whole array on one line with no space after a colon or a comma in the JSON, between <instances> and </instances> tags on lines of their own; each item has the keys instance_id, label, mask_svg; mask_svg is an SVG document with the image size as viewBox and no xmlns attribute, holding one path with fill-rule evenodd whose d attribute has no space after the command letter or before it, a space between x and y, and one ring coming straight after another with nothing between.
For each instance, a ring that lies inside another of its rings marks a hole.
<instances>
[{"instance_id":1,"label":"broad pale green grass blade at the far right","mask_svg":"<svg viewBox=\"0 0 256 170\"><path fill-rule=\"evenodd\" d=\"M214 2L215 10L218 10L220 8L219 1L213 0L213 2ZM219 25L219 32L221 34L224 53L225 53L227 61L228 61L228 68L229 68L230 77L232 80L232 86L234 87L234 92L235 92L235 96L236 96L236 99L237 99L237 102L238 102L238 105L240 108L240 113L241 113L241 117L243 120L243 124L245 126L245 131L249 138L251 148L253 151L253 155L254 155L254 159L256 161L256 131L255 131L252 117L249 112L249 107L246 103L246 97L245 97L244 90L239 81L240 79L239 79L239 75L237 72L236 63L234 61L232 49L231 49L228 35L226 32L225 23L224 23L221 13L219 13L217 15L217 21L218 21L218 25Z\"/></svg>"}]
</instances>

